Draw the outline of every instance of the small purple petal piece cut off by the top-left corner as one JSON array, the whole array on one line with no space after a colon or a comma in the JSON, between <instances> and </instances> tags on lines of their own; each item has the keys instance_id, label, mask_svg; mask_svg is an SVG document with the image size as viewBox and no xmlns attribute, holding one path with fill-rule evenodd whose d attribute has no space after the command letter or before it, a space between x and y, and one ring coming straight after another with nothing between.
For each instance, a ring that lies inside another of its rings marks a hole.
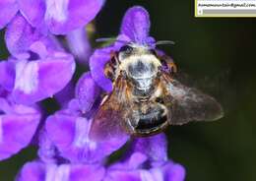
<instances>
[{"instance_id":1,"label":"small purple petal piece cut off by the top-left corner","mask_svg":"<svg viewBox=\"0 0 256 181\"><path fill-rule=\"evenodd\" d=\"M1 0L0 2L0 30L3 29L18 12L16 0Z\"/></svg>"}]
</instances>

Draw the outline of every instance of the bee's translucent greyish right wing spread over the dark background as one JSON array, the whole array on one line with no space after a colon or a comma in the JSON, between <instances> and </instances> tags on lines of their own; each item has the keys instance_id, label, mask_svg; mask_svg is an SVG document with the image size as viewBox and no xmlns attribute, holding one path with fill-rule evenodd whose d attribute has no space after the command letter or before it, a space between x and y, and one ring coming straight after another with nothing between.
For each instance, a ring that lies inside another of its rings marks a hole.
<instances>
[{"instance_id":1,"label":"bee's translucent greyish right wing spread over the dark background","mask_svg":"<svg viewBox=\"0 0 256 181\"><path fill-rule=\"evenodd\" d=\"M190 121L214 121L224 116L221 104L212 96L189 88L163 73L166 94L172 103L170 124L182 125Z\"/></svg>"}]
</instances>

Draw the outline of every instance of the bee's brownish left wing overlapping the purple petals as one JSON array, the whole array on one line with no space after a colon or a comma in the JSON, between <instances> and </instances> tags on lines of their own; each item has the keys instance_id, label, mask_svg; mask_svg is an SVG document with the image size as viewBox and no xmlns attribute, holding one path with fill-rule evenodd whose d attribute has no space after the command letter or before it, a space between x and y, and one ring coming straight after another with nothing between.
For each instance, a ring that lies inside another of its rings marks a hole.
<instances>
[{"instance_id":1,"label":"bee's brownish left wing overlapping the purple petals","mask_svg":"<svg viewBox=\"0 0 256 181\"><path fill-rule=\"evenodd\" d=\"M127 82L121 76L115 81L114 89L101 103L91 126L92 140L110 141L127 134L124 130L124 116L131 110L127 99Z\"/></svg>"}]
</instances>

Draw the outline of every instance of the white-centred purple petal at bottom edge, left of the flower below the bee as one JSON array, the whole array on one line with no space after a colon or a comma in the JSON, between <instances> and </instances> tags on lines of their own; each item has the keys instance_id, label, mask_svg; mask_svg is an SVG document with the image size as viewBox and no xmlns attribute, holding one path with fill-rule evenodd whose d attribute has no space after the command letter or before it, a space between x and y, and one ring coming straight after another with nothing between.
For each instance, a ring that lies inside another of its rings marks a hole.
<instances>
[{"instance_id":1,"label":"white-centred purple petal at bottom edge, left of the flower below the bee","mask_svg":"<svg viewBox=\"0 0 256 181\"><path fill-rule=\"evenodd\" d=\"M45 164L40 161L28 162L18 175L18 181L101 181L104 168L100 165Z\"/></svg>"}]
</instances>

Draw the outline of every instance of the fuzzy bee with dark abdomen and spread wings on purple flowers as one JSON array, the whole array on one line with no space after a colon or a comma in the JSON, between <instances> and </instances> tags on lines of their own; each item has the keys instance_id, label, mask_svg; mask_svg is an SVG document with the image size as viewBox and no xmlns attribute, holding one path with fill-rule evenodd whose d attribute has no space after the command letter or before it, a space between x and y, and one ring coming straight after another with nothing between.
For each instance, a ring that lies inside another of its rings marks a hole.
<instances>
[{"instance_id":1,"label":"fuzzy bee with dark abdomen and spread wings on purple flowers","mask_svg":"<svg viewBox=\"0 0 256 181\"><path fill-rule=\"evenodd\" d=\"M112 81L113 91L105 95L96 112L91 129L96 140L120 134L146 137L168 125L223 117L214 97L175 79L173 60L160 51L128 43L111 57L104 74Z\"/></svg>"}]
</instances>

